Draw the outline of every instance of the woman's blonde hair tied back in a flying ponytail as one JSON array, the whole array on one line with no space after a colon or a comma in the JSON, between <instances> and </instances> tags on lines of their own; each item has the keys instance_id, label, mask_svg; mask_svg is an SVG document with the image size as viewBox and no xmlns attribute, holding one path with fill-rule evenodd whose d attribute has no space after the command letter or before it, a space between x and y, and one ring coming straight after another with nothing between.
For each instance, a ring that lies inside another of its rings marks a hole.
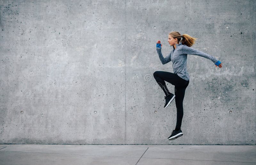
<instances>
[{"instance_id":1,"label":"woman's blonde hair tied back in a flying ponytail","mask_svg":"<svg viewBox=\"0 0 256 165\"><path fill-rule=\"evenodd\" d=\"M171 35L173 38L177 38L178 39L178 43L180 43L180 40L181 40L181 36L182 36L182 41L181 43L183 45L187 45L189 47L191 47L193 44L195 44L196 42L196 39L197 38L194 38L194 37L191 37L190 35L188 34L183 34L181 35L179 32L177 31L172 31L169 33L169 35Z\"/></svg>"}]
</instances>

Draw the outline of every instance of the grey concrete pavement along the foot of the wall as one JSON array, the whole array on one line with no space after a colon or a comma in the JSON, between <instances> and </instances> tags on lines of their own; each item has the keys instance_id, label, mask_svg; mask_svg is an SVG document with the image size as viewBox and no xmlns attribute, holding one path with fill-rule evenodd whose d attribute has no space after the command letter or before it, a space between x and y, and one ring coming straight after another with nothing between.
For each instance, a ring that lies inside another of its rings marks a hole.
<instances>
[{"instance_id":1,"label":"grey concrete pavement along the foot of the wall","mask_svg":"<svg viewBox=\"0 0 256 165\"><path fill-rule=\"evenodd\" d=\"M0 145L1 165L256 164L255 145Z\"/></svg>"}]
</instances>

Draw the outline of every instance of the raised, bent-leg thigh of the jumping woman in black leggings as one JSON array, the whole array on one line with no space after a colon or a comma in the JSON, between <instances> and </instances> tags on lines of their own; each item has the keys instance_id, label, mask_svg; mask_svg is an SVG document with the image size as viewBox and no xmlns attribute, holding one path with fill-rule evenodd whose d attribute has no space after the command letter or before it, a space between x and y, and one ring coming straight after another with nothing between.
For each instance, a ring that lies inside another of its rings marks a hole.
<instances>
[{"instance_id":1,"label":"raised, bent-leg thigh of the jumping woman in black leggings","mask_svg":"<svg viewBox=\"0 0 256 165\"><path fill-rule=\"evenodd\" d=\"M177 74L171 72L164 72L164 71L156 71L154 73L157 77L163 79L164 81L171 83L172 85L180 85L180 79L177 77Z\"/></svg>"}]
</instances>

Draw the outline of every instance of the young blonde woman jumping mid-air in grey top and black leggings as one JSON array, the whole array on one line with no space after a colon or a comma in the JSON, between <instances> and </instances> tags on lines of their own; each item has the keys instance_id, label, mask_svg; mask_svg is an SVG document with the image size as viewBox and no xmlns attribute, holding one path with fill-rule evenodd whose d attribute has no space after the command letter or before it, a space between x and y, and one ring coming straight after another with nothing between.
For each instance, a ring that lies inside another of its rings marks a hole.
<instances>
[{"instance_id":1,"label":"young blonde woman jumping mid-air in grey top and black leggings","mask_svg":"<svg viewBox=\"0 0 256 165\"><path fill-rule=\"evenodd\" d=\"M180 43L182 37L182 41ZM183 98L185 95L185 90L189 83L189 75L187 72L187 55L193 54L197 56L204 57L206 59L210 59L216 67L222 67L221 62L215 57L206 54L202 51L198 51L196 49L191 48L191 46L195 43L196 38L191 37L190 35L183 34L180 35L179 32L173 31L169 33L168 43L173 47L173 50L167 57L163 57L161 48L162 45L160 40L156 43L156 51L158 56L162 62L162 64L166 64L172 61L173 73L164 72L164 71L156 71L154 72L154 77L156 82L160 85L165 95L165 105L164 108L169 106L172 100L175 98L176 108L177 108L177 123L175 130L172 131L171 136L168 140L175 140L176 138L183 135L180 130L181 121L183 118ZM174 85L174 94L169 92L166 87L165 82L171 83Z\"/></svg>"}]
</instances>

